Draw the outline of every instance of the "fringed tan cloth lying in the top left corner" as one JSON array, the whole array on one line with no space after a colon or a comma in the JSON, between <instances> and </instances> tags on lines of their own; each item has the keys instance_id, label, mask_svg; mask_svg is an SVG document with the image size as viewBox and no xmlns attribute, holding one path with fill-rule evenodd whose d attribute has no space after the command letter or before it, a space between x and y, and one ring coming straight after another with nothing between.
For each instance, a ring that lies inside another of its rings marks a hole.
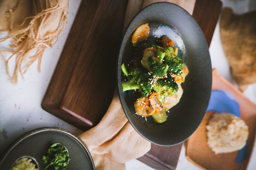
<instances>
[{"instance_id":1,"label":"fringed tan cloth lying in the top left corner","mask_svg":"<svg viewBox=\"0 0 256 170\"><path fill-rule=\"evenodd\" d=\"M12 38L10 49L0 49L0 55L6 65L6 73L12 83L17 82L18 74L28 70L41 59L46 48L58 39L63 30L68 11L68 0L0 0L0 33L7 36L0 42ZM13 74L9 71L9 60L15 58ZM23 68L23 69L22 69Z\"/></svg>"}]
</instances>

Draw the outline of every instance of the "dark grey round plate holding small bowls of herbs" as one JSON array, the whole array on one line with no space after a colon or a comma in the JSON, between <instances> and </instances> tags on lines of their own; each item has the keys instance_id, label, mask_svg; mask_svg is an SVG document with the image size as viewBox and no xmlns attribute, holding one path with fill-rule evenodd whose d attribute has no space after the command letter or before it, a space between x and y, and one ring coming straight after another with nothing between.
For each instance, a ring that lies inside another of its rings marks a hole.
<instances>
[{"instance_id":1,"label":"dark grey round plate holding small bowls of herbs","mask_svg":"<svg viewBox=\"0 0 256 170\"><path fill-rule=\"evenodd\" d=\"M71 160L67 170L95 170L92 157L80 140L65 130L52 127L28 133L15 142L3 156L0 170L10 170L12 164L21 156L35 158L41 167L45 150L54 143L61 143L68 149Z\"/></svg>"}]
</instances>

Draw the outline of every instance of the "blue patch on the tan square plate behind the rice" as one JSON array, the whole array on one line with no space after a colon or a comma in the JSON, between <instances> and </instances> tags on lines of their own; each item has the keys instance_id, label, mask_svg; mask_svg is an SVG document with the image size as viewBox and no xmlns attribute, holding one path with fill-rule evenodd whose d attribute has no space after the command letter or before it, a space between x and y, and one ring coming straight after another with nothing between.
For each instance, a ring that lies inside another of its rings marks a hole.
<instances>
[{"instance_id":1,"label":"blue patch on the tan square plate behind the rice","mask_svg":"<svg viewBox=\"0 0 256 170\"><path fill-rule=\"evenodd\" d=\"M231 113L240 117L240 107L238 102L232 94L227 91L214 90L211 93L207 112L215 111L217 113ZM247 145L238 151L236 162L241 162L245 159L247 154Z\"/></svg>"}]
</instances>

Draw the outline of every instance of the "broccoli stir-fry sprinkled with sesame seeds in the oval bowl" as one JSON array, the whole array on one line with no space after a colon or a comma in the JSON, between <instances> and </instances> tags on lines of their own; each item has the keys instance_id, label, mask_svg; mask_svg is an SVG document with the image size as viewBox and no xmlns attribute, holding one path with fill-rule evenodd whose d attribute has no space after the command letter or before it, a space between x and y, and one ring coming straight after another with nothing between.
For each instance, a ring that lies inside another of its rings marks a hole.
<instances>
[{"instance_id":1,"label":"broccoli stir-fry sprinkled with sesame seeds in the oval bowl","mask_svg":"<svg viewBox=\"0 0 256 170\"><path fill-rule=\"evenodd\" d=\"M152 116L155 122L167 119L166 111L175 106L183 94L181 83L189 73L183 59L177 57L178 48L173 40L163 36L152 42L149 26L139 26L132 35L135 57L122 72L127 79L122 82L122 90L134 90L140 97L134 102L137 115Z\"/></svg>"}]
</instances>

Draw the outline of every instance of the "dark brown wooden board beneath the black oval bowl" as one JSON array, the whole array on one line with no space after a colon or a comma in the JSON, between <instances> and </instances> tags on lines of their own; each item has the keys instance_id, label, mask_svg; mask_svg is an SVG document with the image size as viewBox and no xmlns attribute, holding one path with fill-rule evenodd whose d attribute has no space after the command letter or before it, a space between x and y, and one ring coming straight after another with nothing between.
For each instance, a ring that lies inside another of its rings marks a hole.
<instances>
[{"instance_id":1,"label":"dark brown wooden board beneath the black oval bowl","mask_svg":"<svg viewBox=\"0 0 256 170\"><path fill-rule=\"evenodd\" d=\"M97 125L110 105L116 85L116 59L122 40L127 0L82 0L42 108L88 130ZM208 45L221 10L219 0L197 0L193 17ZM151 145L139 158L157 169L175 169L182 144Z\"/></svg>"}]
</instances>

